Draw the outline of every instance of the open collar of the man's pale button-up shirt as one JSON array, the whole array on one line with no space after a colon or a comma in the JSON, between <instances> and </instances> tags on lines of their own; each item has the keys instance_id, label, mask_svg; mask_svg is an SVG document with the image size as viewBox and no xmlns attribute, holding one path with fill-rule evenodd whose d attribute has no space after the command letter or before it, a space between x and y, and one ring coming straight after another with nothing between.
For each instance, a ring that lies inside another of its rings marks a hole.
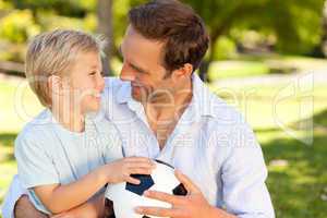
<instances>
[{"instance_id":1,"label":"open collar of the man's pale button-up shirt","mask_svg":"<svg viewBox=\"0 0 327 218\"><path fill-rule=\"evenodd\" d=\"M193 111L194 116L209 116L216 117L217 104L219 105L219 98L215 96L208 87L204 84L204 82L198 77L196 73L192 75L192 89L193 89L193 97L190 102L190 106ZM123 82L121 87L117 94L117 101L119 104L128 104L129 107L133 110L140 109L142 104L134 100L131 95L131 83ZM218 101L217 101L218 99Z\"/></svg>"}]
</instances>

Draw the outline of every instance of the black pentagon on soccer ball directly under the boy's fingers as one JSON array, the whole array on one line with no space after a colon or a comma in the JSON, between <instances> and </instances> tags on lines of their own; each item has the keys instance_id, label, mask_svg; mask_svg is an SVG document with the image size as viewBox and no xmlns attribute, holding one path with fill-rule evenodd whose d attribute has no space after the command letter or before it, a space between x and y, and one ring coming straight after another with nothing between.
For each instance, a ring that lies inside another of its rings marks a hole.
<instances>
[{"instance_id":1,"label":"black pentagon on soccer ball directly under the boy's fingers","mask_svg":"<svg viewBox=\"0 0 327 218\"><path fill-rule=\"evenodd\" d=\"M146 190L150 189L155 184L152 175L149 174L131 174L131 177L140 180L141 183L132 184L128 182L125 190L138 194L140 196L142 196Z\"/></svg>"}]
</instances>

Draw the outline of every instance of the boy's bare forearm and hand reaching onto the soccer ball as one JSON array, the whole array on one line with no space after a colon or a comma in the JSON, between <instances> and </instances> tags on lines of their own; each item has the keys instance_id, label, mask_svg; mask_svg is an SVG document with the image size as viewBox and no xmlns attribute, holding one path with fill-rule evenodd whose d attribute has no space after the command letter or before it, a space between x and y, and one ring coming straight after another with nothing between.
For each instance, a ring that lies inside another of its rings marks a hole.
<instances>
[{"instance_id":1,"label":"boy's bare forearm and hand reaching onto the soccer ball","mask_svg":"<svg viewBox=\"0 0 327 218\"><path fill-rule=\"evenodd\" d=\"M150 174L154 167L148 158L129 157L104 165L76 182L35 186L34 191L47 209L60 214L83 204L108 182L138 184L131 174Z\"/></svg>"}]
</instances>

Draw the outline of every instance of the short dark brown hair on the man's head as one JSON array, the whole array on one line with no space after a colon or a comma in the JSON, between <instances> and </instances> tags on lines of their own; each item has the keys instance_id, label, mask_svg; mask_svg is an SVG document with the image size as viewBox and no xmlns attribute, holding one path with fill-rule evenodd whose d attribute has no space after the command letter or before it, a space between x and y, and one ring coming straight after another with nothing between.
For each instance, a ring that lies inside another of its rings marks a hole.
<instances>
[{"instance_id":1,"label":"short dark brown hair on the man's head","mask_svg":"<svg viewBox=\"0 0 327 218\"><path fill-rule=\"evenodd\" d=\"M133 28L148 39L165 41L164 66L177 70L185 63L195 71L204 58L209 37L203 20L175 0L153 0L129 12Z\"/></svg>"}]
</instances>

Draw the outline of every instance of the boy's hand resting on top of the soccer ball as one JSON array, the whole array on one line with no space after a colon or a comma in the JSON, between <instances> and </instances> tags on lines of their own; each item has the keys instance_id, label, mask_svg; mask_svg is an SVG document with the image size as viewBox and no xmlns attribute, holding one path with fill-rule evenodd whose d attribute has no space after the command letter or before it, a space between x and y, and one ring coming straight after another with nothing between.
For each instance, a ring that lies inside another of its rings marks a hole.
<instances>
[{"instance_id":1,"label":"boy's hand resting on top of the soccer ball","mask_svg":"<svg viewBox=\"0 0 327 218\"><path fill-rule=\"evenodd\" d=\"M145 157L126 157L105 166L109 183L130 182L140 184L140 180L131 174L150 174L156 167L155 162Z\"/></svg>"}]
</instances>

